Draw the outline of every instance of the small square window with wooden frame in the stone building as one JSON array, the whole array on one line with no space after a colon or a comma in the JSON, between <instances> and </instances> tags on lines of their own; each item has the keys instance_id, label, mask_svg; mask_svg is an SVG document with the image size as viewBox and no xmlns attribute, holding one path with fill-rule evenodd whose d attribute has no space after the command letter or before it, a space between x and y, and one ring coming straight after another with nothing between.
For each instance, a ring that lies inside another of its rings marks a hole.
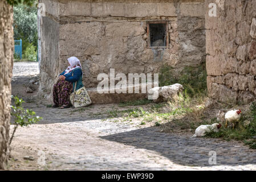
<instances>
[{"instance_id":1,"label":"small square window with wooden frame in the stone building","mask_svg":"<svg viewBox=\"0 0 256 182\"><path fill-rule=\"evenodd\" d=\"M168 22L148 22L148 48L168 48Z\"/></svg>"}]
</instances>

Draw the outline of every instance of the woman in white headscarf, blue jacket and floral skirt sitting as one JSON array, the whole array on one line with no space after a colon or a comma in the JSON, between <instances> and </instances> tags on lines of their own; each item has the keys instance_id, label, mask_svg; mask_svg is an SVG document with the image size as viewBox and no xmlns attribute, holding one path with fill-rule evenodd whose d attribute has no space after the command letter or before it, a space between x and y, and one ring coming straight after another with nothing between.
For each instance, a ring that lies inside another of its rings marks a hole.
<instances>
[{"instance_id":1,"label":"woman in white headscarf, blue jacket and floral skirt sitting","mask_svg":"<svg viewBox=\"0 0 256 182\"><path fill-rule=\"evenodd\" d=\"M59 80L54 84L53 99L54 106L60 109L68 108L71 106L70 94L83 87L82 83L82 66L77 57L70 57L67 59L70 64L65 71L59 75Z\"/></svg>"}]
</instances>

